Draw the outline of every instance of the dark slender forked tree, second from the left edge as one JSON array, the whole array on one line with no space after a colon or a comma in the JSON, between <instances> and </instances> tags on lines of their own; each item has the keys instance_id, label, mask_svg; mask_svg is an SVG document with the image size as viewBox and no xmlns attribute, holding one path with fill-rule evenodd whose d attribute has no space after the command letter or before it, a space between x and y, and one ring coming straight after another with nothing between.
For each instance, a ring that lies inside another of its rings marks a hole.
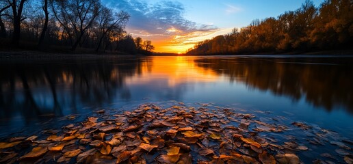
<instances>
[{"instance_id":1,"label":"dark slender forked tree, second from the left edge","mask_svg":"<svg viewBox=\"0 0 353 164\"><path fill-rule=\"evenodd\" d=\"M8 0L12 7L12 21L14 26L14 32L12 33L12 44L14 46L19 46L20 35L21 35L21 22L25 20L23 17L23 6L27 0Z\"/></svg>"}]
</instances>

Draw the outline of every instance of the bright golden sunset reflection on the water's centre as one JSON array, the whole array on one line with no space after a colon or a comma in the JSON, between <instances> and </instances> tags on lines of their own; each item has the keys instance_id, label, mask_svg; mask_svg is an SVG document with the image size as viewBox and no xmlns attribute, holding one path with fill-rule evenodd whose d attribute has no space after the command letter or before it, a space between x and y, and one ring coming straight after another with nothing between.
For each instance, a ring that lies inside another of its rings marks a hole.
<instances>
[{"instance_id":1,"label":"bright golden sunset reflection on the water's centre","mask_svg":"<svg viewBox=\"0 0 353 164\"><path fill-rule=\"evenodd\" d=\"M127 79L127 83L138 84L149 81L165 79L168 87L174 87L181 83L213 82L219 79L219 75L213 70L207 70L196 66L195 57L153 57L152 64L148 62L142 65L142 74Z\"/></svg>"}]
</instances>

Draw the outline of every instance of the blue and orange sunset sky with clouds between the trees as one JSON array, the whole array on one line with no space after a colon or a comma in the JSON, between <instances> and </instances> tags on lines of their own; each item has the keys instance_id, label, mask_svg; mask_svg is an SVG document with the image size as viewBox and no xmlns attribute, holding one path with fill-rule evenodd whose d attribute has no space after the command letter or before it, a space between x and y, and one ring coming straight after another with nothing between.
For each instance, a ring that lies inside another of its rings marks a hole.
<instances>
[{"instance_id":1,"label":"blue and orange sunset sky with clouds between the trees","mask_svg":"<svg viewBox=\"0 0 353 164\"><path fill-rule=\"evenodd\" d=\"M314 0L319 6L324 0ZM127 33L151 40L155 52L185 53L196 42L296 10L304 0L103 0L131 15Z\"/></svg>"}]
</instances>

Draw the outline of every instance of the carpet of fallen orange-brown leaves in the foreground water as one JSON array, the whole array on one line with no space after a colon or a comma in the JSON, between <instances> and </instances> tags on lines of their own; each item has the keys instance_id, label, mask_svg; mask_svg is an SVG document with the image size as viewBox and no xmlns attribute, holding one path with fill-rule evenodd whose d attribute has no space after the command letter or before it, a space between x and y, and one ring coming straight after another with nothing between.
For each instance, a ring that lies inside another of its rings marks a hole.
<instances>
[{"instance_id":1,"label":"carpet of fallen orange-brown leaves in the foreground water","mask_svg":"<svg viewBox=\"0 0 353 164\"><path fill-rule=\"evenodd\" d=\"M300 163L295 152L308 150L294 142L278 146L259 135L280 133L287 126L229 109L146 104L115 115L96 113L99 117L44 131L40 137L1 142L0 163ZM253 131L250 122L257 124ZM300 122L293 126L311 128ZM346 163L352 159L345 154Z\"/></svg>"}]
</instances>

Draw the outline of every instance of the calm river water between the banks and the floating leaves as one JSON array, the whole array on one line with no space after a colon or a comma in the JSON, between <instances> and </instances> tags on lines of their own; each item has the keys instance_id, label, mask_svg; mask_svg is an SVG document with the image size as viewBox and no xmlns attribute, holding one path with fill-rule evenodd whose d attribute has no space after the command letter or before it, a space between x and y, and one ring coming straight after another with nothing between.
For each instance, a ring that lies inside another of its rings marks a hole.
<instances>
[{"instance_id":1,"label":"calm river water between the banks and the floating leaves","mask_svg":"<svg viewBox=\"0 0 353 164\"><path fill-rule=\"evenodd\" d=\"M1 61L0 136L94 109L175 100L266 111L352 139L352 85L353 57Z\"/></svg>"}]
</instances>

